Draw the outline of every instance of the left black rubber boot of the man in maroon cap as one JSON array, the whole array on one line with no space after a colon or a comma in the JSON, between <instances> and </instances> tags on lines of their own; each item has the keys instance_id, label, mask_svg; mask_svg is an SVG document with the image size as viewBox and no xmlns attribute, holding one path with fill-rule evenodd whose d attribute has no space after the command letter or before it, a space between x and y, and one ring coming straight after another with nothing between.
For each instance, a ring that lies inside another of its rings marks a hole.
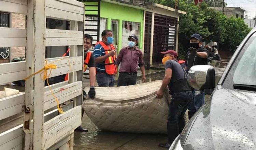
<instances>
[{"instance_id":1,"label":"left black rubber boot of the man in maroon cap","mask_svg":"<svg viewBox=\"0 0 256 150\"><path fill-rule=\"evenodd\" d=\"M159 144L160 147L170 147L174 139L179 135L179 123L167 122L168 142Z\"/></svg>"}]
</instances>

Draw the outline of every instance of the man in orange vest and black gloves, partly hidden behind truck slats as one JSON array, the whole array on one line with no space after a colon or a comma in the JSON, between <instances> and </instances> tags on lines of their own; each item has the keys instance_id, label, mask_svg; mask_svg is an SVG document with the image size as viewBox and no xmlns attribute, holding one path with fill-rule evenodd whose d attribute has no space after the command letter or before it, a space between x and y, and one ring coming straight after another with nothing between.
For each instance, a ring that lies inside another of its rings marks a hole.
<instances>
[{"instance_id":1,"label":"man in orange vest and black gloves, partly hidden behind truck slats","mask_svg":"<svg viewBox=\"0 0 256 150\"><path fill-rule=\"evenodd\" d=\"M83 71L85 72L87 67L89 67L89 77L90 77L90 90L88 92L88 96L90 96L91 99L94 99L95 97L95 80L96 80L96 68L95 68L95 60L89 49L91 48L91 45L93 43L93 37L91 35L85 34L84 35L84 66ZM83 95L86 96L86 92L83 91ZM84 115L84 110L83 113ZM87 132L88 130L83 129L83 127L80 125L75 129L76 131L82 131Z\"/></svg>"}]
</instances>

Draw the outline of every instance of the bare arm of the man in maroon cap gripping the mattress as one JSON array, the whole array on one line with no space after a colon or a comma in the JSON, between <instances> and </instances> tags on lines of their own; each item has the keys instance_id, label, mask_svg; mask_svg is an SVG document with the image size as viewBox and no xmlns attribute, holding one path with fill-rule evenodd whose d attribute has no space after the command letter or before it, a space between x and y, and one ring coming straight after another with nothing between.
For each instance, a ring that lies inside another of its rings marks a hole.
<instances>
[{"instance_id":1,"label":"bare arm of the man in maroon cap gripping the mattress","mask_svg":"<svg viewBox=\"0 0 256 150\"><path fill-rule=\"evenodd\" d=\"M172 78L172 69L168 68L165 71L165 77L163 78L162 85L160 89L156 92L157 98L161 98L163 96L163 91L170 83L171 78Z\"/></svg>"}]
</instances>

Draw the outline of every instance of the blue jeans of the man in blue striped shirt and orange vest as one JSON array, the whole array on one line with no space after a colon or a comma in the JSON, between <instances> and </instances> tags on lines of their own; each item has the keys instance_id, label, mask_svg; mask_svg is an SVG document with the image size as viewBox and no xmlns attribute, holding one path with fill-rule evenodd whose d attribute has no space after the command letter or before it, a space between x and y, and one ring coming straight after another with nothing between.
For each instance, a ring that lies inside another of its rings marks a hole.
<instances>
[{"instance_id":1,"label":"blue jeans of the man in blue striped shirt and orange vest","mask_svg":"<svg viewBox=\"0 0 256 150\"><path fill-rule=\"evenodd\" d=\"M103 72L96 73L96 80L99 87L113 87L115 84L114 75L108 75Z\"/></svg>"}]
</instances>

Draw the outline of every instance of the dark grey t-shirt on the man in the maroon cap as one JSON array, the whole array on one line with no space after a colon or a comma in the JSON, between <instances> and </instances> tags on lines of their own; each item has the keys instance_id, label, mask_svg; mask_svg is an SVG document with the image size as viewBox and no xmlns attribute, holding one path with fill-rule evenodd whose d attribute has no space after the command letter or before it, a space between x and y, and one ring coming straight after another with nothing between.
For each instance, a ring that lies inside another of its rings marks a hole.
<instances>
[{"instance_id":1,"label":"dark grey t-shirt on the man in the maroon cap","mask_svg":"<svg viewBox=\"0 0 256 150\"><path fill-rule=\"evenodd\" d=\"M185 79L186 74L182 68L182 66L175 60L168 60L165 62L165 70L172 69L172 78L170 83L173 83L180 79Z\"/></svg>"}]
</instances>

